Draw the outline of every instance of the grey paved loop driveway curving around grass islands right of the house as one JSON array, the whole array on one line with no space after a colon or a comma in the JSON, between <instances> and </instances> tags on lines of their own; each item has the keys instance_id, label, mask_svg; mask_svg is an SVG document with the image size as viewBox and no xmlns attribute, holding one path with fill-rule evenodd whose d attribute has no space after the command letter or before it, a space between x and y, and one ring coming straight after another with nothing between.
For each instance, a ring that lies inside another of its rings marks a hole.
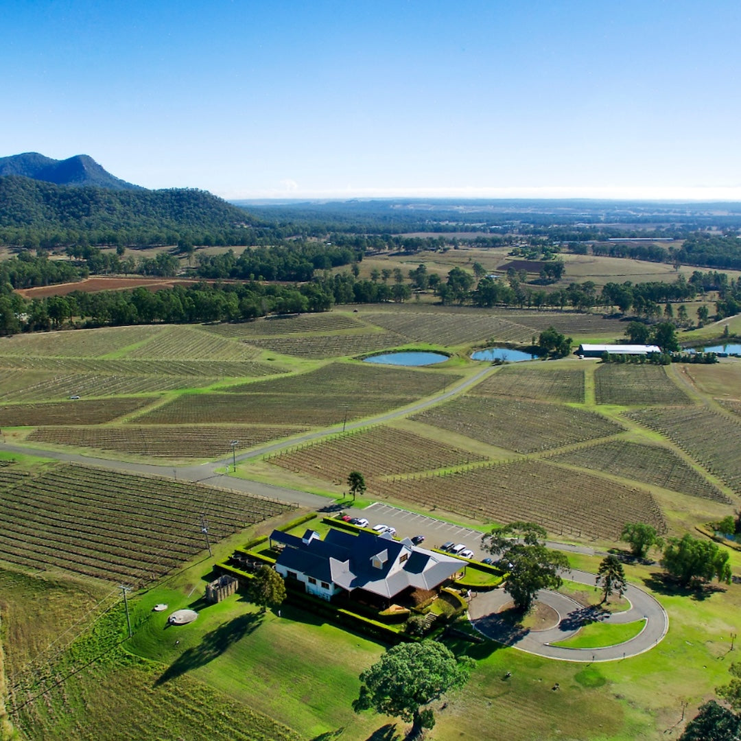
<instances>
[{"instance_id":1,"label":"grey paved loop driveway curving around grass islands right of the house","mask_svg":"<svg viewBox=\"0 0 741 741\"><path fill-rule=\"evenodd\" d=\"M569 571L564 575L572 582L589 586L595 586L597 579L594 574L586 571ZM559 623L545 631L531 631L516 628L498 616L499 610L511 602L511 597L499 588L490 592L477 592L468 605L468 619L485 637L528 654L562 661L615 661L637 656L654 648L669 628L669 617L665 609L650 594L628 585L623 596L631 603L631 608L625 612L609 614L603 613L599 608L585 608L557 592L541 590L536 599L558 613ZM576 635L590 622L617 624L637 620L645 620L643 630L636 637L617 645L605 648L565 648L553 645L554 642Z\"/></svg>"}]
</instances>

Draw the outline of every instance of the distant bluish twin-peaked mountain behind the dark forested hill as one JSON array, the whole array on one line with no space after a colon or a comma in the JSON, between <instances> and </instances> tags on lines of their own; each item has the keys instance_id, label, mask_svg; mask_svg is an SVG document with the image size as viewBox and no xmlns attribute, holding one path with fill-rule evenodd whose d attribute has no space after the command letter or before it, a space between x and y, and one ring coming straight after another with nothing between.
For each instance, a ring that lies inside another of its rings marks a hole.
<instances>
[{"instance_id":1,"label":"distant bluish twin-peaked mountain behind the dark forested hill","mask_svg":"<svg viewBox=\"0 0 741 741\"><path fill-rule=\"evenodd\" d=\"M21 175L55 185L95 185L113 190L143 190L139 185L111 175L87 154L77 154L69 159L52 159L38 152L0 157L0 176L3 175Z\"/></svg>"}]
</instances>

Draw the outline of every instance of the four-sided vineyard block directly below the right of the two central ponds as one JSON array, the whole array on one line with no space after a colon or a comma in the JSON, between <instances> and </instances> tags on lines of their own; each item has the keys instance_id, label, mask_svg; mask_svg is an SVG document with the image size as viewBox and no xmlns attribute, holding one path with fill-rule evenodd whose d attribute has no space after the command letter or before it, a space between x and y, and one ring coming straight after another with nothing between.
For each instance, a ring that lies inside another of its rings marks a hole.
<instances>
[{"instance_id":1,"label":"four-sided vineyard block directly below the right of the two central ponds","mask_svg":"<svg viewBox=\"0 0 741 741\"><path fill-rule=\"evenodd\" d=\"M545 402L584 402L584 368L559 368L550 363L508 365L476 385L475 396L512 396Z\"/></svg>"}]
</instances>

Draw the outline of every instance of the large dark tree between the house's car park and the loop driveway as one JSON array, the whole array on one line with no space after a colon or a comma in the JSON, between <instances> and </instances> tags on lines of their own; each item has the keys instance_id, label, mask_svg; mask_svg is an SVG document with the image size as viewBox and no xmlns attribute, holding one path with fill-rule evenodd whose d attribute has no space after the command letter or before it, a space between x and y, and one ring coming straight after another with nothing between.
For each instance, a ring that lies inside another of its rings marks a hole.
<instances>
[{"instance_id":1,"label":"large dark tree between the house's car park and the loop driveway","mask_svg":"<svg viewBox=\"0 0 741 741\"><path fill-rule=\"evenodd\" d=\"M505 592L518 610L528 612L540 589L558 589L560 571L568 569L564 554L545 547L545 528L534 522L511 522L484 536L483 545L506 563Z\"/></svg>"}]
</instances>

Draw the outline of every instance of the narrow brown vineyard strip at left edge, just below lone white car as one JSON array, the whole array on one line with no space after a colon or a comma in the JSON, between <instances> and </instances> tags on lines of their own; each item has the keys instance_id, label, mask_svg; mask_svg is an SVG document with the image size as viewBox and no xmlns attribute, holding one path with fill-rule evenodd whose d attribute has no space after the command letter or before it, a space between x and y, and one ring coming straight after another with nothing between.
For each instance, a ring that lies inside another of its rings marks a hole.
<instances>
[{"instance_id":1,"label":"narrow brown vineyard strip at left edge, just below lone white car","mask_svg":"<svg viewBox=\"0 0 741 741\"><path fill-rule=\"evenodd\" d=\"M70 399L47 404L13 404L0 407L0 427L42 425L104 425L151 404L147 396L113 399Z\"/></svg>"}]
</instances>

